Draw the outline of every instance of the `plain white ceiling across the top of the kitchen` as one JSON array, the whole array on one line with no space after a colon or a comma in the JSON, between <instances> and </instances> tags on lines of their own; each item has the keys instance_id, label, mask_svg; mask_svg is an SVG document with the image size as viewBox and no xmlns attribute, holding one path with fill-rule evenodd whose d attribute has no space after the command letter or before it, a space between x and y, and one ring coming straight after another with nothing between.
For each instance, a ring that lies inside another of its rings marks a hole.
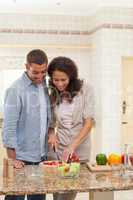
<instances>
[{"instance_id":1,"label":"plain white ceiling across the top of the kitchen","mask_svg":"<svg viewBox=\"0 0 133 200\"><path fill-rule=\"evenodd\" d=\"M133 0L0 0L0 13L92 15L103 6L133 8Z\"/></svg>"}]
</instances>

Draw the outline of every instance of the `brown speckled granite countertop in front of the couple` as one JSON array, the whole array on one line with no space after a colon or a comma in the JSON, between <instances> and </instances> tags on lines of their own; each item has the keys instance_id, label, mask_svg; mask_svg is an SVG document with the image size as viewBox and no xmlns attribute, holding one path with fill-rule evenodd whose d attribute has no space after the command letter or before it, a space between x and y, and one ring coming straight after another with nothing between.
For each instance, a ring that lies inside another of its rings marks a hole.
<instances>
[{"instance_id":1,"label":"brown speckled granite countertop in front of the couple","mask_svg":"<svg viewBox=\"0 0 133 200\"><path fill-rule=\"evenodd\" d=\"M31 176L31 172L36 176ZM12 172L11 172L12 173ZM133 173L125 178L116 172L90 172L86 165L81 166L80 176L75 179L50 175L38 166L26 166L14 170L10 177L0 177L0 195L3 194L43 194L55 192L115 191L133 189Z\"/></svg>"}]
</instances>

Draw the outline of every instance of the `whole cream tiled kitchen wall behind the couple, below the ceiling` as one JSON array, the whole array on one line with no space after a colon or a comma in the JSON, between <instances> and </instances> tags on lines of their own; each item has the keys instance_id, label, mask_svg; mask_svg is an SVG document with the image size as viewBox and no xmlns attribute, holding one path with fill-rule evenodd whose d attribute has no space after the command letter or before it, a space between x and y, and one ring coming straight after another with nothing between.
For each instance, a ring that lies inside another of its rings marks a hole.
<instances>
[{"instance_id":1,"label":"whole cream tiled kitchen wall behind the couple, below the ceiling","mask_svg":"<svg viewBox=\"0 0 133 200\"><path fill-rule=\"evenodd\" d=\"M96 97L93 155L99 151L119 152L121 148L121 57L133 55L132 11L104 8L91 18L0 16L0 19L4 18L0 20L0 69L22 69L26 53L38 47L46 51L49 60L58 55L73 58L80 76L92 83ZM3 23L5 20L7 23ZM1 28L12 31L15 28L21 31L31 29L33 33L2 33ZM55 29L56 34L36 33L36 30ZM61 34L60 30L68 30L68 34ZM78 31L78 34L71 31ZM82 34L82 31L88 32ZM7 46L3 47L4 44ZM50 48L49 44L55 46ZM73 45L75 48L71 48ZM77 48L76 45L87 45L87 48ZM0 87L3 87L2 77Z\"/></svg>"}]
</instances>

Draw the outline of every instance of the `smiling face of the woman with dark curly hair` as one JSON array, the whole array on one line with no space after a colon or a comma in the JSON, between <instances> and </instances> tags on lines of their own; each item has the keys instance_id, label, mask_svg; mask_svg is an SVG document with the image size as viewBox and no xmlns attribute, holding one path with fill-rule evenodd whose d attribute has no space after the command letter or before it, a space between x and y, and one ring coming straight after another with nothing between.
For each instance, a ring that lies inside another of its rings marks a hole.
<instances>
[{"instance_id":1,"label":"smiling face of the woman with dark curly hair","mask_svg":"<svg viewBox=\"0 0 133 200\"><path fill-rule=\"evenodd\" d=\"M52 81L60 92L64 92L69 84L69 77L65 72L56 70L52 74Z\"/></svg>"}]
</instances>

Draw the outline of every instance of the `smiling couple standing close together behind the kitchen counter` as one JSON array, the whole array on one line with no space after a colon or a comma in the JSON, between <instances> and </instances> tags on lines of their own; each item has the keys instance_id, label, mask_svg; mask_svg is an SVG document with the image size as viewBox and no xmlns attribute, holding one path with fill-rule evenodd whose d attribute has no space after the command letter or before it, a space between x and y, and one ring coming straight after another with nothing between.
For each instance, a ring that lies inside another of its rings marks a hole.
<instances>
[{"instance_id":1,"label":"smiling couple standing close together behind the kitchen counter","mask_svg":"<svg viewBox=\"0 0 133 200\"><path fill-rule=\"evenodd\" d=\"M56 57L48 65L45 52L30 51L26 71L7 89L4 100L3 144L16 168L37 165L55 147L61 157L76 152L81 162L90 157L94 120L92 88L78 78L73 60ZM46 74L49 75L47 86ZM56 132L55 132L56 129ZM76 193L54 194L54 200L73 200ZM28 195L44 200L45 195ZM23 200L24 196L6 196Z\"/></svg>"}]
</instances>

